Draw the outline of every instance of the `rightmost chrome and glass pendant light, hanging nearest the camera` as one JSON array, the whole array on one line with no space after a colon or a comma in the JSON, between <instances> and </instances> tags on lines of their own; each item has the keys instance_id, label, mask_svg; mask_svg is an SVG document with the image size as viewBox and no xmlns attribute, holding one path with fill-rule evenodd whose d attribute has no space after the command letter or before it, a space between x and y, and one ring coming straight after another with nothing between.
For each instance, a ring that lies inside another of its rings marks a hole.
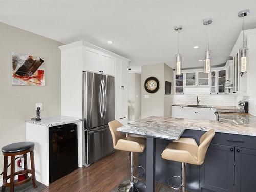
<instances>
[{"instance_id":1,"label":"rightmost chrome and glass pendant light, hanging nearest the camera","mask_svg":"<svg viewBox=\"0 0 256 192\"><path fill-rule=\"evenodd\" d=\"M246 73L246 67L248 65L248 48L245 46L245 39L244 39L244 17L249 15L249 9L242 10L238 13L238 17L243 17L243 47L239 49L239 56L240 56L240 74L241 76Z\"/></svg>"}]
</instances>

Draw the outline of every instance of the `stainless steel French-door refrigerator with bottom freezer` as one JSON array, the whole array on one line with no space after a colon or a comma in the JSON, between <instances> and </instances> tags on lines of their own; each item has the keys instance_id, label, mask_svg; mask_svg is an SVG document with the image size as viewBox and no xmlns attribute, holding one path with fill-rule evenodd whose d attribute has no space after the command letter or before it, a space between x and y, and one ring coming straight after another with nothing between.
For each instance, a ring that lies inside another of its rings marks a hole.
<instances>
[{"instance_id":1,"label":"stainless steel French-door refrigerator with bottom freezer","mask_svg":"<svg viewBox=\"0 0 256 192\"><path fill-rule=\"evenodd\" d=\"M83 72L83 165L111 154L108 122L115 119L115 79L110 75Z\"/></svg>"}]
</instances>

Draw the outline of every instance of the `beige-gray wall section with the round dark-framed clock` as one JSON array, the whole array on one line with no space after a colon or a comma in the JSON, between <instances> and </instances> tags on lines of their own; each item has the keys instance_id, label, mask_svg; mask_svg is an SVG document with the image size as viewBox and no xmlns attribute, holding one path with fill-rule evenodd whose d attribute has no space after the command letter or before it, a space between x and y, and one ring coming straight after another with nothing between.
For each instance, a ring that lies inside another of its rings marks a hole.
<instances>
[{"instance_id":1,"label":"beige-gray wall section with the round dark-framed clock","mask_svg":"<svg viewBox=\"0 0 256 192\"><path fill-rule=\"evenodd\" d=\"M160 82L160 88L156 93L148 93L144 88L145 80L151 76L156 77ZM165 97L165 80L173 82L173 69L165 63L141 66L142 119L153 115L170 117L170 105L173 103L173 95ZM145 95L149 95L150 98L145 98Z\"/></svg>"}]
</instances>

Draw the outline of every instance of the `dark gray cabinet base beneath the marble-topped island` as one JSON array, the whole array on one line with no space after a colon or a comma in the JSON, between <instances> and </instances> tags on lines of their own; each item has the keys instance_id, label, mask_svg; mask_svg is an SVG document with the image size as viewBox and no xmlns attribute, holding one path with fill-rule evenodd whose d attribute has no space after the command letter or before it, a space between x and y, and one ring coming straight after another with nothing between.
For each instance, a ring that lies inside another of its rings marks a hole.
<instances>
[{"instance_id":1,"label":"dark gray cabinet base beneath the marble-topped island","mask_svg":"<svg viewBox=\"0 0 256 192\"><path fill-rule=\"evenodd\" d=\"M181 137L199 139L205 131L185 130ZM181 175L181 163L161 158L170 140L157 139L155 148L155 181ZM195 192L256 191L256 137L216 133L201 166L187 164L187 190ZM146 167L146 151L139 153L139 165ZM153 176L154 177L154 176ZM178 185L179 180L173 183Z\"/></svg>"}]
</instances>

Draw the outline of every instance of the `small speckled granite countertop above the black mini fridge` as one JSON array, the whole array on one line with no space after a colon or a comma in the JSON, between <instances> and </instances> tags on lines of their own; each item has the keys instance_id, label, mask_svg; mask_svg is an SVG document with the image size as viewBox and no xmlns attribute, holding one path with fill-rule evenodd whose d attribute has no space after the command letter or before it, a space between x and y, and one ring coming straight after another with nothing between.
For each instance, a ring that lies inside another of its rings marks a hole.
<instances>
[{"instance_id":1,"label":"small speckled granite countertop above the black mini fridge","mask_svg":"<svg viewBox=\"0 0 256 192\"><path fill-rule=\"evenodd\" d=\"M57 126L62 124L76 123L81 120L82 120L81 118L77 118L77 117L55 116L55 117L42 118L40 121L26 120L25 122L51 127L51 126Z\"/></svg>"}]
</instances>

